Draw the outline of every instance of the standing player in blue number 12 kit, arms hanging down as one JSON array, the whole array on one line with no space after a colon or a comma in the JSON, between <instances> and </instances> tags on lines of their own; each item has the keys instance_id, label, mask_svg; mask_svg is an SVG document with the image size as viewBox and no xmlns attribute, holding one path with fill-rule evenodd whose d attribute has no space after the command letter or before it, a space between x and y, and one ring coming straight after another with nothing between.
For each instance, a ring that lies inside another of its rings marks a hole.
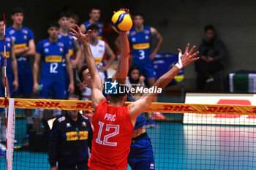
<instances>
[{"instance_id":1,"label":"standing player in blue number 12 kit, arms hanging down","mask_svg":"<svg viewBox=\"0 0 256 170\"><path fill-rule=\"evenodd\" d=\"M67 72L69 73L70 84L69 93L74 92L74 81L72 66L69 60L68 47L58 39L59 24L50 23L48 27L48 39L43 39L37 44L37 53L34 58L34 92L38 90L37 74L39 71L39 61L42 58L42 72L40 77L40 85L42 90L39 91L39 98L48 98L53 94L53 98L66 98L65 82L63 76L62 60L66 58ZM59 110L57 110L59 111ZM60 115L60 112L53 113L53 116ZM36 109L34 112L34 128L38 128L40 120L43 117L43 109Z\"/></svg>"}]
</instances>

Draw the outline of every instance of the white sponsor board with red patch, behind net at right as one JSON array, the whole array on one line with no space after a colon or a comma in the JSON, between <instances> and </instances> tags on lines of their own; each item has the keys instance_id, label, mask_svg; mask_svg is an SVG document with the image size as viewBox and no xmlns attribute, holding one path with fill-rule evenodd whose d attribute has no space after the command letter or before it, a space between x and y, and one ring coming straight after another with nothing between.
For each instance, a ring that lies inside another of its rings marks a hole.
<instances>
[{"instance_id":1,"label":"white sponsor board with red patch, behind net at right","mask_svg":"<svg viewBox=\"0 0 256 170\"><path fill-rule=\"evenodd\" d=\"M211 115L208 112L201 112L202 114L198 114L198 112L185 112L183 123L256 125L255 97L255 94L187 93L186 104L216 104L216 107L211 107L211 109L208 107L210 111L215 110L211 112ZM227 113L223 109L227 109L227 112L231 111L234 113Z\"/></svg>"}]
</instances>

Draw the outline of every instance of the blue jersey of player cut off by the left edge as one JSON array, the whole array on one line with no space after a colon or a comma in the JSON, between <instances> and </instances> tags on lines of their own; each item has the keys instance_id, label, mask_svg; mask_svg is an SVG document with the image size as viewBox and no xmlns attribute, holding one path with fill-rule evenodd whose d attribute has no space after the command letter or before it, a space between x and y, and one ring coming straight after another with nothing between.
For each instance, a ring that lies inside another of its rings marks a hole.
<instances>
[{"instance_id":1,"label":"blue jersey of player cut off by the left edge","mask_svg":"<svg viewBox=\"0 0 256 170\"><path fill-rule=\"evenodd\" d=\"M12 39L11 36L5 36L5 45L6 45L6 58L7 58L7 75L12 74L11 66L11 49L12 49ZM0 40L0 53L4 56L4 39Z\"/></svg>"}]
</instances>

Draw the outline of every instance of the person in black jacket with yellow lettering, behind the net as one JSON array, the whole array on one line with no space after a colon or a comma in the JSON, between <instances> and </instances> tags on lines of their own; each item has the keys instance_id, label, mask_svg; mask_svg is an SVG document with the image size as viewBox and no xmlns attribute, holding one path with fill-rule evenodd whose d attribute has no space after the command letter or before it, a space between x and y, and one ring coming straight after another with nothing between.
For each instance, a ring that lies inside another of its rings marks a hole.
<instances>
[{"instance_id":1,"label":"person in black jacket with yellow lettering, behind the net","mask_svg":"<svg viewBox=\"0 0 256 170\"><path fill-rule=\"evenodd\" d=\"M78 100L72 94L69 100ZM50 131L49 163L50 170L88 169L88 148L91 150L91 123L78 110L68 110L57 117Z\"/></svg>"}]
</instances>

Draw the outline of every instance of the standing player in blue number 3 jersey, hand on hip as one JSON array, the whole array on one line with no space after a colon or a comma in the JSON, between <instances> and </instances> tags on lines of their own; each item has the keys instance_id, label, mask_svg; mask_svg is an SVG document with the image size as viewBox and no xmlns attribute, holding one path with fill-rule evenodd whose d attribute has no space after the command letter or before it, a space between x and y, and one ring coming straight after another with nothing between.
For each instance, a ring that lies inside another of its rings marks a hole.
<instances>
[{"instance_id":1,"label":"standing player in blue number 3 jersey, hand on hip","mask_svg":"<svg viewBox=\"0 0 256 170\"><path fill-rule=\"evenodd\" d=\"M162 44L162 36L159 34L156 28L150 26L144 26L144 20L141 15L135 15L134 27L128 32L129 42L132 46L133 64L139 67L140 74L146 77L149 87L154 85L156 81L154 72L153 60L159 47ZM157 47L151 51L151 37L155 36L157 38ZM157 101L157 98L154 99ZM154 116L157 118L165 118L160 115L159 112L155 112ZM154 120L152 119L151 112L148 113L149 125L154 125Z\"/></svg>"}]
</instances>

